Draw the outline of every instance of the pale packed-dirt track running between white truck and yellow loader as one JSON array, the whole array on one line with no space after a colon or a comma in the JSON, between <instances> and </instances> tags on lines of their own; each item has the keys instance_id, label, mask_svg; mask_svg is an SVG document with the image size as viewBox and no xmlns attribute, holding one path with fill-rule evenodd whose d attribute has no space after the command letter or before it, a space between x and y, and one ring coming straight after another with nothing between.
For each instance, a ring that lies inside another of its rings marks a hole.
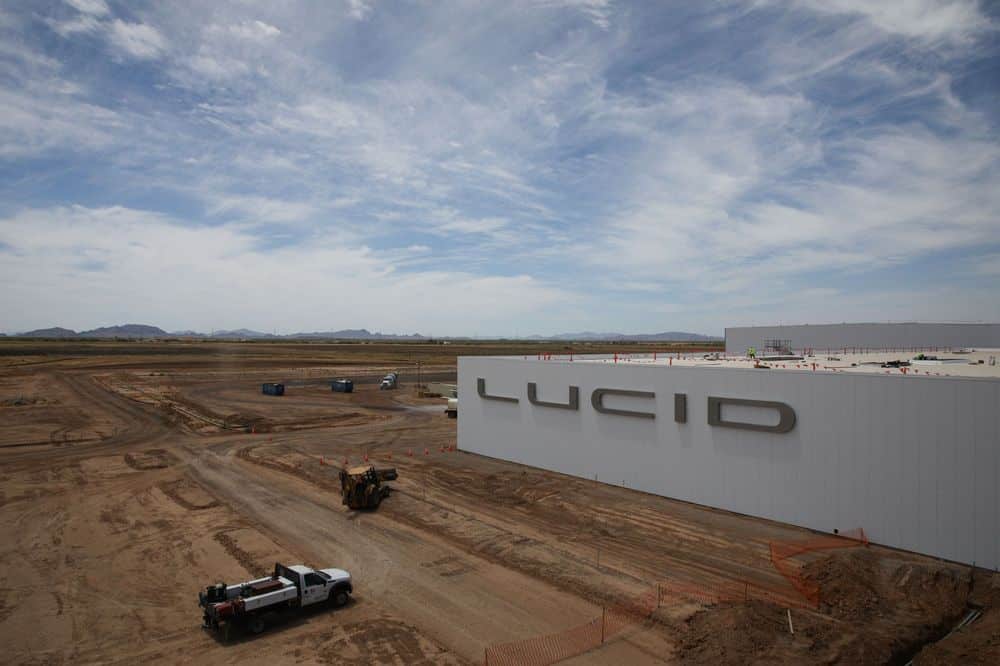
<instances>
[{"instance_id":1,"label":"pale packed-dirt track running between white truck and yellow loader","mask_svg":"<svg viewBox=\"0 0 1000 666\"><path fill-rule=\"evenodd\" d=\"M422 564L468 556L384 516L348 512L339 493L243 462L232 449L184 448L198 481L255 529L313 562L347 568L359 601L392 608L466 659L481 659L485 645L563 629L594 613L579 597L482 558L474 575L441 576Z\"/></svg>"}]
</instances>

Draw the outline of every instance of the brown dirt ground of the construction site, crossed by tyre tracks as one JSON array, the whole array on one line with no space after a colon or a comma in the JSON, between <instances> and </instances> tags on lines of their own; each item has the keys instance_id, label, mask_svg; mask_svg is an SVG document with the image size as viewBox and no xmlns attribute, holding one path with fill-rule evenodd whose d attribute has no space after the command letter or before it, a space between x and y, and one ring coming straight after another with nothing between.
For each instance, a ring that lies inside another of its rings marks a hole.
<instances>
[{"instance_id":1,"label":"brown dirt ground of the construction site, crossed by tyre tracks","mask_svg":"<svg viewBox=\"0 0 1000 666\"><path fill-rule=\"evenodd\" d=\"M481 663L659 581L794 593L769 543L805 530L454 450L417 363L447 381L457 355L522 351L546 350L0 342L0 662ZM402 387L378 391L390 369ZM399 479L377 512L349 511L337 472L366 456ZM260 636L200 628L201 588L277 560L349 570L352 602ZM823 604L791 611L794 634L782 606L669 597L571 661L997 661L987 575L877 547L802 571ZM970 599L983 617L937 642Z\"/></svg>"}]
</instances>

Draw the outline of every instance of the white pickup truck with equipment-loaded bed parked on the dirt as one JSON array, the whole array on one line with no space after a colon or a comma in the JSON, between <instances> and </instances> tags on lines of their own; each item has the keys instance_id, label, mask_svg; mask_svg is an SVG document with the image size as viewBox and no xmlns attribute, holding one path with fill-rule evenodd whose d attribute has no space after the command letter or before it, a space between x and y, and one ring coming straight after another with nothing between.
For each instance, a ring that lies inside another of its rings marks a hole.
<instances>
[{"instance_id":1,"label":"white pickup truck with equipment-loaded bed parked on the dirt","mask_svg":"<svg viewBox=\"0 0 1000 666\"><path fill-rule=\"evenodd\" d=\"M301 608L327 601L343 606L354 588L351 574L343 569L310 569L301 564L290 567L277 563L266 578L226 585L218 583L198 593L204 626L222 629L226 637L234 624L251 632L264 631L264 618L271 613Z\"/></svg>"}]
</instances>

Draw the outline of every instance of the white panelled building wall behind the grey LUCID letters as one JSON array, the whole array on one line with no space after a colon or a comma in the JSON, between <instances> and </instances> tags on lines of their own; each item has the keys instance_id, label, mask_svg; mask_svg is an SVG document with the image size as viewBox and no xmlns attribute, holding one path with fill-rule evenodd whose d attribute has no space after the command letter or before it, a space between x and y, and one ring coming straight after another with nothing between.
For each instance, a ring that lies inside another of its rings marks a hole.
<instances>
[{"instance_id":1,"label":"white panelled building wall behind the grey LUCID letters","mask_svg":"<svg viewBox=\"0 0 1000 666\"><path fill-rule=\"evenodd\" d=\"M477 378L518 402L481 398ZM825 532L863 527L889 546L1000 567L1000 381L483 357L460 358L458 381L463 450ZM527 382L551 402L579 387L578 410L530 404ZM598 413L595 388L651 391L605 405L656 417ZM687 396L686 423L674 421L675 393ZM795 427L710 426L708 396L787 403Z\"/></svg>"}]
</instances>

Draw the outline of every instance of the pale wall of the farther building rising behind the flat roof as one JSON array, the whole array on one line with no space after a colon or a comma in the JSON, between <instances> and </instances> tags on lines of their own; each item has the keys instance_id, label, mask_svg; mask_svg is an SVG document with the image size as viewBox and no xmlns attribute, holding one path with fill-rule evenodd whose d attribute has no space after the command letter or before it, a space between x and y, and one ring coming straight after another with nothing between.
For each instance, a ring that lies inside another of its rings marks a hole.
<instances>
[{"instance_id":1,"label":"pale wall of the farther building rising behind the flat roof","mask_svg":"<svg viewBox=\"0 0 1000 666\"><path fill-rule=\"evenodd\" d=\"M862 347L916 349L928 347L1000 348L1000 324L819 324L744 326L726 329L726 353L764 348L764 340L791 340L792 349Z\"/></svg>"}]
</instances>

